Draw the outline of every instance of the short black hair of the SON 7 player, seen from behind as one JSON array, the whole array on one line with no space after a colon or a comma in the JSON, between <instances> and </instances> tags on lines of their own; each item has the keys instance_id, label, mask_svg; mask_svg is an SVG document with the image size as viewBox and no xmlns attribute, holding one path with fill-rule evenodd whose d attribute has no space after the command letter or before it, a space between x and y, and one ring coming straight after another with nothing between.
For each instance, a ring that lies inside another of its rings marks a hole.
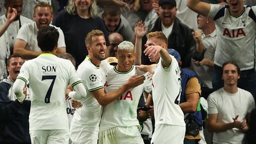
<instances>
[{"instance_id":1,"label":"short black hair of the SON 7 player, seen from behind","mask_svg":"<svg viewBox=\"0 0 256 144\"><path fill-rule=\"evenodd\" d=\"M37 43L41 51L52 51L59 39L59 31L55 27L47 26L41 28L37 33Z\"/></svg>"}]
</instances>

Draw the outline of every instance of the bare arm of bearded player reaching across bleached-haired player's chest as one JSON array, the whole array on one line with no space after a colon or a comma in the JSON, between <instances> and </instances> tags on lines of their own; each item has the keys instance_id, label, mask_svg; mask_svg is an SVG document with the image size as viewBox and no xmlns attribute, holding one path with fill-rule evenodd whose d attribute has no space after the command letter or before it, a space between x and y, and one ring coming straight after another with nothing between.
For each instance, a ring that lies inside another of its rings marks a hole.
<instances>
[{"instance_id":1,"label":"bare arm of bearded player reaching across bleached-haired player's chest","mask_svg":"<svg viewBox=\"0 0 256 144\"><path fill-rule=\"evenodd\" d=\"M104 88L97 89L95 91L92 91L91 94L94 95L98 103L102 106L105 106L112 101L116 100L119 98L124 92L128 91L130 88L137 87L138 85L143 84L145 80L145 76L143 75L134 75L129 78L129 80L121 86L119 89L116 89L115 91L108 92L105 94Z\"/></svg>"}]
</instances>

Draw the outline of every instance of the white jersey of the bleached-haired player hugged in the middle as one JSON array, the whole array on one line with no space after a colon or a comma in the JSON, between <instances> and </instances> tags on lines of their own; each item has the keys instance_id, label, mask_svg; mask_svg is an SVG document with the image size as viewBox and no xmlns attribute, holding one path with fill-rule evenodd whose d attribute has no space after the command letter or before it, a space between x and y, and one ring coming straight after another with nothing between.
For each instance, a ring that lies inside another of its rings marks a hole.
<instances>
[{"instance_id":1,"label":"white jersey of the bleached-haired player hugged in the middle","mask_svg":"<svg viewBox=\"0 0 256 144\"><path fill-rule=\"evenodd\" d=\"M119 72L116 67L110 69L107 73L105 92L115 91L120 88L133 75L135 75L135 66L132 66L127 72ZM116 126L139 126L137 105L143 91L148 93L152 91L151 84L151 80L148 78L142 85L129 89L120 98L106 105L103 108L100 131Z\"/></svg>"}]
</instances>

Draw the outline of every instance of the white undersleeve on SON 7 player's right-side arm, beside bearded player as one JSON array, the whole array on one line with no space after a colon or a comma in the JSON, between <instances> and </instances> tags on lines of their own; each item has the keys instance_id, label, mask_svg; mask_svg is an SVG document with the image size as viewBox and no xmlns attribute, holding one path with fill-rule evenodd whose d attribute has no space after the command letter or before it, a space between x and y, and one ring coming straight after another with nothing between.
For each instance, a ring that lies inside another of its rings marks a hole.
<instances>
[{"instance_id":1,"label":"white undersleeve on SON 7 player's right-side arm, beside bearded player","mask_svg":"<svg viewBox=\"0 0 256 144\"><path fill-rule=\"evenodd\" d=\"M84 88L84 85L81 83L76 84L74 87L75 91L69 92L68 96L76 100L81 100L87 95L87 91Z\"/></svg>"}]
</instances>

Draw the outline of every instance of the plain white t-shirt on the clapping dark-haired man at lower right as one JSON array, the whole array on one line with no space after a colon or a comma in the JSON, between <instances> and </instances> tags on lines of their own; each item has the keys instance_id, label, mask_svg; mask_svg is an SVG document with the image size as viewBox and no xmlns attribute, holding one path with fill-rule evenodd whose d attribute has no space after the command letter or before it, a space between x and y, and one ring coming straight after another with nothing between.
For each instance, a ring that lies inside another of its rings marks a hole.
<instances>
[{"instance_id":1,"label":"plain white t-shirt on the clapping dark-haired man at lower right","mask_svg":"<svg viewBox=\"0 0 256 144\"><path fill-rule=\"evenodd\" d=\"M226 92L223 88L209 95L209 114L218 114L217 123L232 123L237 115L238 120L244 120L247 113L255 108L254 98L251 93L238 88L235 94ZM242 143L245 134L237 128L225 132L213 133L213 143Z\"/></svg>"}]
</instances>

